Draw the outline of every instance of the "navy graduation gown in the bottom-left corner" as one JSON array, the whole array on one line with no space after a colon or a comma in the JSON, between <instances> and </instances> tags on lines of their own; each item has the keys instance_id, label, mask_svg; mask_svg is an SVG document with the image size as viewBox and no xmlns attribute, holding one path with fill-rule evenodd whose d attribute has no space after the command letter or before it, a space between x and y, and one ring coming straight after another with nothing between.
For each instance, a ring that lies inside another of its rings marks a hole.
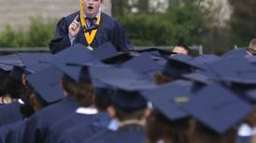
<instances>
[{"instance_id":1,"label":"navy graduation gown in the bottom-left corner","mask_svg":"<svg viewBox=\"0 0 256 143\"><path fill-rule=\"evenodd\" d=\"M0 128L0 143L21 143L25 121L10 123Z\"/></svg>"}]
</instances>

